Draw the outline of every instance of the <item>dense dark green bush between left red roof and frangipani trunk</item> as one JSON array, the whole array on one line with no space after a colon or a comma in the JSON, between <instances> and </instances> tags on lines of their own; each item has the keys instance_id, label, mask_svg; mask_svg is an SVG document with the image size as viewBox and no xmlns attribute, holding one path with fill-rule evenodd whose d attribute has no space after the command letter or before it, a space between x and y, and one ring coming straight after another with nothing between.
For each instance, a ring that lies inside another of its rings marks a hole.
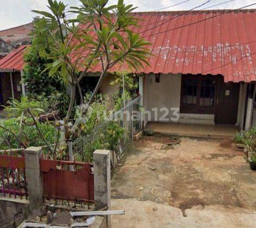
<instances>
[{"instance_id":1,"label":"dense dark green bush between left red roof and frangipani trunk","mask_svg":"<svg viewBox=\"0 0 256 228\"><path fill-rule=\"evenodd\" d=\"M23 80L26 84L27 96L39 100L46 111L59 110L59 116L63 118L68 109L69 97L64 81L58 77L59 72L49 77L49 71L43 71L49 60L34 50L33 43L32 48L29 48L24 55L24 61L26 66Z\"/></svg>"}]
</instances>

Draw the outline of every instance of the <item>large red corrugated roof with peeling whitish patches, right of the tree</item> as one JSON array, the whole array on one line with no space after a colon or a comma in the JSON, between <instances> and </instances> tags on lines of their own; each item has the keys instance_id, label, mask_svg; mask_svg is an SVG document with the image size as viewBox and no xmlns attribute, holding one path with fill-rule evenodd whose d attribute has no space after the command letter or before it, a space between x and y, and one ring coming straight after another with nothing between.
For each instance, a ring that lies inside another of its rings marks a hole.
<instances>
[{"instance_id":1,"label":"large red corrugated roof with peeling whitish patches, right of the tree","mask_svg":"<svg viewBox=\"0 0 256 228\"><path fill-rule=\"evenodd\" d=\"M152 43L151 67L140 73L222 74L226 82L256 81L256 10L134 15L141 19L134 31Z\"/></svg>"}]
</instances>

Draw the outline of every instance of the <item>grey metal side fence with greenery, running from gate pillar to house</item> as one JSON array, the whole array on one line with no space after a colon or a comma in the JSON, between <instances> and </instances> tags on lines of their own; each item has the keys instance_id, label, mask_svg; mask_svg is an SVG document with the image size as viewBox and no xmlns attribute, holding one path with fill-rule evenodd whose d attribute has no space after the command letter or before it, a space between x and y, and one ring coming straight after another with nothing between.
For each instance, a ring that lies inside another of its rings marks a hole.
<instances>
[{"instance_id":1,"label":"grey metal side fence with greenery, running from gate pillar to house","mask_svg":"<svg viewBox=\"0 0 256 228\"><path fill-rule=\"evenodd\" d=\"M96 149L107 149L114 153L112 163L121 159L124 150L133 141L133 135L142 129L140 110L141 96L127 102L126 106L117 112L113 112L108 120L97 124L89 135L83 135L72 142L72 154L76 159L83 162L92 162L92 153ZM111 136L112 126L118 125L122 128L122 136L117 141L115 134ZM115 160L115 161L114 161Z\"/></svg>"}]
</instances>

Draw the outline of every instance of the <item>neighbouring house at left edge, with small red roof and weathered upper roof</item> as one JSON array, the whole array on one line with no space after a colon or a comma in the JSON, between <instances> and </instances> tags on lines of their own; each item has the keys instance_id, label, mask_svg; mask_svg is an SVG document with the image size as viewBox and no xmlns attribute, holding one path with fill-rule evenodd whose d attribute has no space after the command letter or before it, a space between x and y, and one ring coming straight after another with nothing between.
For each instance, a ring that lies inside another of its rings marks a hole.
<instances>
[{"instance_id":1,"label":"neighbouring house at left edge, with small red roof and weathered upper roof","mask_svg":"<svg viewBox=\"0 0 256 228\"><path fill-rule=\"evenodd\" d=\"M23 74L23 53L30 45L33 23L23 24L0 31L0 104L5 105L10 98L19 99L24 94L21 83ZM10 53L11 52L11 53ZM5 57L4 57L5 56Z\"/></svg>"}]
</instances>

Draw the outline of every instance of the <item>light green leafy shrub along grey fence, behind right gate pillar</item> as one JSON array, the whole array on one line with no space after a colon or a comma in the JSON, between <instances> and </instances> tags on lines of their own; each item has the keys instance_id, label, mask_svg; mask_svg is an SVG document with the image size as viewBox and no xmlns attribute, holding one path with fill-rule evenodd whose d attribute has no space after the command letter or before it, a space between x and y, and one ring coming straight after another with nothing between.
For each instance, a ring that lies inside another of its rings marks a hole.
<instances>
[{"instance_id":1,"label":"light green leafy shrub along grey fence, behind right gate pillar","mask_svg":"<svg viewBox=\"0 0 256 228\"><path fill-rule=\"evenodd\" d=\"M107 121L110 115L108 103L98 97L91 105L90 117L82 125L82 132L74 141L74 154L79 161L92 161L93 151L97 149L116 150L125 130L116 121Z\"/></svg>"}]
</instances>

